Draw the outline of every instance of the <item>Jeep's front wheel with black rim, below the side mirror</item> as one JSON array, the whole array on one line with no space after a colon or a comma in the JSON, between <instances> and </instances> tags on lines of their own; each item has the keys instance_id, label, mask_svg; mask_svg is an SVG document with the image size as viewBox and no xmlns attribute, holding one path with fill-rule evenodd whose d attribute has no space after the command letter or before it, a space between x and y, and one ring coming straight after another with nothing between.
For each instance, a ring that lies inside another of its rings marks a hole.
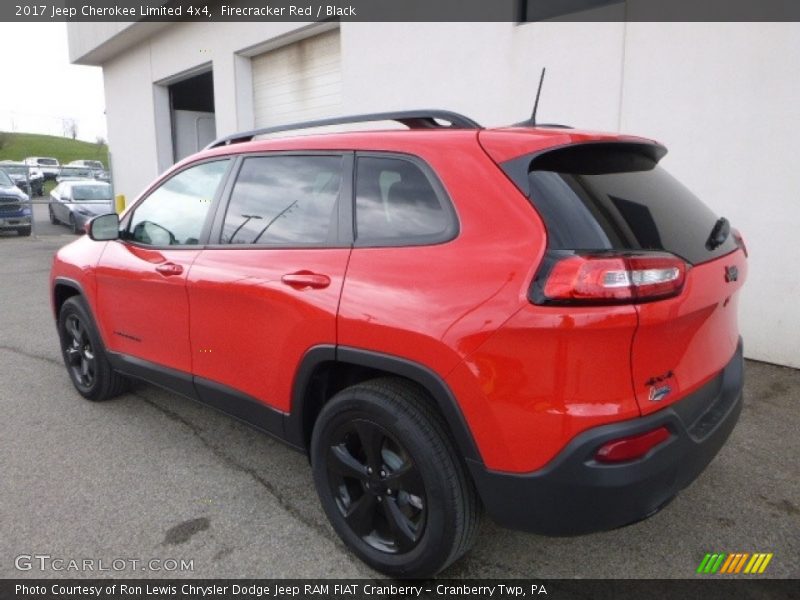
<instances>
[{"instance_id":1,"label":"Jeep's front wheel with black rim, below the side mirror","mask_svg":"<svg viewBox=\"0 0 800 600\"><path fill-rule=\"evenodd\" d=\"M68 298L61 307L58 337L64 365L81 396L100 402L127 389L128 380L111 368L94 321L80 296Z\"/></svg>"}]
</instances>

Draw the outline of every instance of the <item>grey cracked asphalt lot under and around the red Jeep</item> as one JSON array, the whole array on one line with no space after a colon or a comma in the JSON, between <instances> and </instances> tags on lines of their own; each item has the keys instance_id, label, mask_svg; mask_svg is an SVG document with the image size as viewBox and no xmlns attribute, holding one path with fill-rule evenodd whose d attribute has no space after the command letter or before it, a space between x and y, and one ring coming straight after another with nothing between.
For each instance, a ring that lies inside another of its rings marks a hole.
<instances>
[{"instance_id":1,"label":"grey cracked asphalt lot under and around the red Jeep","mask_svg":"<svg viewBox=\"0 0 800 600\"><path fill-rule=\"evenodd\" d=\"M0 234L0 577L376 576L300 454L150 385L105 403L74 391L48 272L75 236L36 214L37 236ZM660 513L574 538L484 519L442 577L683 578L708 552L773 553L764 576L800 577L800 371L748 361L746 380L728 444Z\"/></svg>"}]
</instances>

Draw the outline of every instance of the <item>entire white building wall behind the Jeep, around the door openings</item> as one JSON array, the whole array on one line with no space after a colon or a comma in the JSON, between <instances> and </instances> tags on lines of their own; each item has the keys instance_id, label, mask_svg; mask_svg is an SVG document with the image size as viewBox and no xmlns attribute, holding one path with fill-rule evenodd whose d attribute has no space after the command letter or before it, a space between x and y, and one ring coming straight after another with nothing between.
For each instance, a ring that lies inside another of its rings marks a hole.
<instances>
[{"instance_id":1,"label":"entire white building wall behind the Jeep, around the door openings","mask_svg":"<svg viewBox=\"0 0 800 600\"><path fill-rule=\"evenodd\" d=\"M248 56L275 37L291 41L298 28L183 23L104 59L117 189L132 197L160 170L154 84L210 63L217 134L246 129ZM800 24L342 23L341 31L346 112L442 107L507 124L529 116L547 66L540 121L665 143L663 164L748 243L746 354L800 367Z\"/></svg>"}]
</instances>

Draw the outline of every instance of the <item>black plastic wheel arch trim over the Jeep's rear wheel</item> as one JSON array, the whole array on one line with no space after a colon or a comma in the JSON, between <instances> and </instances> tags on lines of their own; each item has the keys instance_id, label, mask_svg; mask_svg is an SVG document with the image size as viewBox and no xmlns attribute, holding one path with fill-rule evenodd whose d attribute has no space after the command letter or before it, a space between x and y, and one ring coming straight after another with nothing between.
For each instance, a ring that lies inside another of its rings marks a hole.
<instances>
[{"instance_id":1,"label":"black plastic wheel arch trim over the Jeep's rear wheel","mask_svg":"<svg viewBox=\"0 0 800 600\"><path fill-rule=\"evenodd\" d=\"M308 432L305 431L304 411L307 391L317 367L326 362L377 369L418 383L436 402L461 456L473 463L482 464L480 451L456 397L442 377L428 367L406 358L350 346L315 346L303 356L292 385L291 412L285 421L286 441L292 446L306 445Z\"/></svg>"}]
</instances>

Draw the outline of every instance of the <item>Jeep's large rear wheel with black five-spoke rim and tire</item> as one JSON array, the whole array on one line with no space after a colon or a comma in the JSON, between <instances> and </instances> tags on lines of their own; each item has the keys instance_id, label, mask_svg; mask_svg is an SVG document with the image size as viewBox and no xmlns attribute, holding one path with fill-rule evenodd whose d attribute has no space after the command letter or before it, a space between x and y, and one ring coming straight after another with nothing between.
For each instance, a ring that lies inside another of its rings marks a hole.
<instances>
[{"instance_id":1,"label":"Jeep's large rear wheel with black five-spoke rim and tire","mask_svg":"<svg viewBox=\"0 0 800 600\"><path fill-rule=\"evenodd\" d=\"M475 488L412 382L374 379L336 394L314 426L311 462L336 533L381 573L432 576L475 539Z\"/></svg>"}]
</instances>

